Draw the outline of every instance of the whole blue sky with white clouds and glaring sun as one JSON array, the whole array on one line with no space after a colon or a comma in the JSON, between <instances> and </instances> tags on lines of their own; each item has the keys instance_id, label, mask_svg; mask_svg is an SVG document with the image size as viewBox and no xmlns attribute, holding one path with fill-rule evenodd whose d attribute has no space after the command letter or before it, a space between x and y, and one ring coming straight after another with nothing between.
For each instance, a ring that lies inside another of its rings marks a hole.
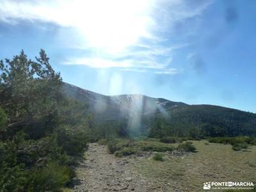
<instances>
[{"instance_id":1,"label":"whole blue sky with white clouds and glaring sun","mask_svg":"<svg viewBox=\"0 0 256 192\"><path fill-rule=\"evenodd\" d=\"M0 0L0 59L47 52L63 81L256 113L254 0Z\"/></svg>"}]
</instances>

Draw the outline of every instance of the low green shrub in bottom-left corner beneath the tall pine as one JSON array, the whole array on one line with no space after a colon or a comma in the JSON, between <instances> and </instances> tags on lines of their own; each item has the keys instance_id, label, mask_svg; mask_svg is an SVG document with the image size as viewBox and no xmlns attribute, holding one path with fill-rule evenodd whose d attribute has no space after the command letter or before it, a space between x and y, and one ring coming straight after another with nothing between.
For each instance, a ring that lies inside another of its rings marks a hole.
<instances>
[{"instance_id":1,"label":"low green shrub in bottom-left corner beneath the tall pine","mask_svg":"<svg viewBox=\"0 0 256 192\"><path fill-rule=\"evenodd\" d=\"M3 191L60 191L75 176L53 136L0 142L0 188ZM17 150L19 149L19 150Z\"/></svg>"}]
</instances>

